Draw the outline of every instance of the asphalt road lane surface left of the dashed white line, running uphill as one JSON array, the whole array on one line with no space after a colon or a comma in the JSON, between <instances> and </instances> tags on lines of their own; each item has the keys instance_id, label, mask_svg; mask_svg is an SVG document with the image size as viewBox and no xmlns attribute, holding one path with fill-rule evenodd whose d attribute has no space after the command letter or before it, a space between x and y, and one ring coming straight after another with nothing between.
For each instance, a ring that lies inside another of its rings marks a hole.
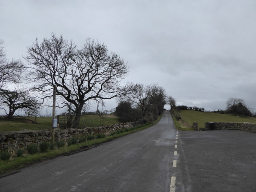
<instances>
[{"instance_id":1,"label":"asphalt road lane surface left of the dashed white line, running uphill","mask_svg":"<svg viewBox=\"0 0 256 192\"><path fill-rule=\"evenodd\" d=\"M151 128L1 178L1 192L168 192L176 130L170 113Z\"/></svg>"}]
</instances>

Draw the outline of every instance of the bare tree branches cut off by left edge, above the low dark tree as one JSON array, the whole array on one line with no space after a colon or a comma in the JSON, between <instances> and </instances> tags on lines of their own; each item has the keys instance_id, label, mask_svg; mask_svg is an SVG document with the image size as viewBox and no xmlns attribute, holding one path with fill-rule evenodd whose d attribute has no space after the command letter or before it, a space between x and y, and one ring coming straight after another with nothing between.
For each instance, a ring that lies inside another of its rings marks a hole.
<instances>
[{"instance_id":1,"label":"bare tree branches cut off by left edge, above the low dark tree","mask_svg":"<svg viewBox=\"0 0 256 192\"><path fill-rule=\"evenodd\" d=\"M7 61L4 41L0 39L0 88L3 88L7 83L19 83L23 71L24 66L21 60Z\"/></svg>"}]
</instances>

